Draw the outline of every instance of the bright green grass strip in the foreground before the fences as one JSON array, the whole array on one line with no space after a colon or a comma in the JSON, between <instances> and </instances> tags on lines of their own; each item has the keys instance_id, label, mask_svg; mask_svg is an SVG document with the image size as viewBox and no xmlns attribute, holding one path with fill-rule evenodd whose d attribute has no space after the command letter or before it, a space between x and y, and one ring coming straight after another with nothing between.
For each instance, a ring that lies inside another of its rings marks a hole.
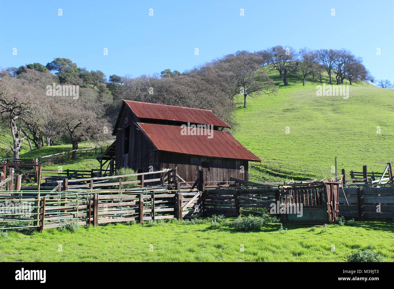
<instances>
[{"instance_id":1,"label":"bright green grass strip in the foreground before the fences","mask_svg":"<svg viewBox=\"0 0 394 289\"><path fill-rule=\"evenodd\" d=\"M10 232L8 238L0 238L0 261L345 261L351 251L370 244L387 261L394 261L393 225L392 221L356 222L330 225L326 232L320 227L312 232L308 225L285 225L285 234L280 234L280 224L257 232L235 232L180 223L117 224L75 233Z\"/></svg>"}]
</instances>

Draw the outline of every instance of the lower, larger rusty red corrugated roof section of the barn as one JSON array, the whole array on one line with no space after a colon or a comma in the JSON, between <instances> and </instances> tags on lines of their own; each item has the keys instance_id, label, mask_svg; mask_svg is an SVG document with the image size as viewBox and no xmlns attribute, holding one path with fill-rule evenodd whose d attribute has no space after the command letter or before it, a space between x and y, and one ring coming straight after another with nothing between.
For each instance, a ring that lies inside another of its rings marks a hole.
<instances>
[{"instance_id":1,"label":"lower, larger rusty red corrugated roof section of the barn","mask_svg":"<svg viewBox=\"0 0 394 289\"><path fill-rule=\"evenodd\" d=\"M225 131L208 132L206 129L201 129L200 135L182 135L184 128L180 126L154 123L138 123L138 125L159 151L261 161ZM208 138L208 133L212 133L212 138Z\"/></svg>"}]
</instances>

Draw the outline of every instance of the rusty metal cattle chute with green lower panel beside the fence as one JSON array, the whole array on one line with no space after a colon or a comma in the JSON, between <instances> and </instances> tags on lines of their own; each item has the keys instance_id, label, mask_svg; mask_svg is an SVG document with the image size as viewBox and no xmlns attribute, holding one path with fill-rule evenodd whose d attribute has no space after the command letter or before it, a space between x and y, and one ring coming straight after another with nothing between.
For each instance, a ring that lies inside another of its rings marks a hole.
<instances>
[{"instance_id":1,"label":"rusty metal cattle chute with green lower panel beside the fence","mask_svg":"<svg viewBox=\"0 0 394 289\"><path fill-rule=\"evenodd\" d=\"M283 223L330 224L338 216L339 182L315 181L279 186ZM291 210L296 209L296 210ZM301 214L300 214L301 212Z\"/></svg>"}]
</instances>

